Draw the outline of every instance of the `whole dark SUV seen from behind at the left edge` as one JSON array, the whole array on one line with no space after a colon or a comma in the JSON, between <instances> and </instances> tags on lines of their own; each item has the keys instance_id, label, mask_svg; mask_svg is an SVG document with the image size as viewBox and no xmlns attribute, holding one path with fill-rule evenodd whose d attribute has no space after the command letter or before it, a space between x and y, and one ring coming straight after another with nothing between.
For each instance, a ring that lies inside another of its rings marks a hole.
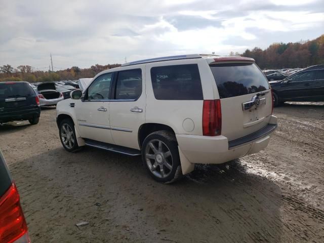
<instances>
[{"instance_id":1,"label":"whole dark SUV seen from behind at the left edge","mask_svg":"<svg viewBox=\"0 0 324 243\"><path fill-rule=\"evenodd\" d=\"M39 115L39 99L29 83L0 82L0 123L28 120L35 125Z\"/></svg>"}]
</instances>

